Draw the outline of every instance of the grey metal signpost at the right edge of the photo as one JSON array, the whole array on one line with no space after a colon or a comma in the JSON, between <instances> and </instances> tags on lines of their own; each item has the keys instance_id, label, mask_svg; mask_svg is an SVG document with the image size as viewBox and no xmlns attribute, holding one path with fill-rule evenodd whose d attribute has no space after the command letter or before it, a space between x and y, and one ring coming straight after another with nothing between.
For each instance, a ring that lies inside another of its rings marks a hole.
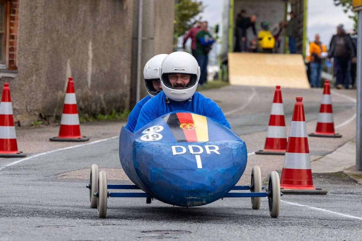
<instances>
[{"instance_id":1,"label":"grey metal signpost at the right edge of the photo","mask_svg":"<svg viewBox=\"0 0 362 241\"><path fill-rule=\"evenodd\" d=\"M358 11L357 33L356 171L362 171L362 10Z\"/></svg>"}]
</instances>

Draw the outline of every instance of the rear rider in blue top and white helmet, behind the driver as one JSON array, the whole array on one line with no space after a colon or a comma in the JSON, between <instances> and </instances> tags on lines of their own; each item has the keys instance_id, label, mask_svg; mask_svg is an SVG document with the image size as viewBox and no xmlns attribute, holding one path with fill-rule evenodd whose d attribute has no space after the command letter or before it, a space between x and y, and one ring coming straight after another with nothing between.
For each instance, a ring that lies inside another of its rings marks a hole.
<instances>
[{"instance_id":1,"label":"rear rider in blue top and white helmet, behind the driver","mask_svg":"<svg viewBox=\"0 0 362 241\"><path fill-rule=\"evenodd\" d=\"M167 54L153 56L150 60L147 61L146 65L144 66L143 77L144 82L146 83L148 95L135 105L130 115L128 116L128 121L125 128L130 132L134 132L139 113L141 112L144 104L146 104L148 100L150 100L152 97L156 96L159 92L162 91L159 69L162 61L165 59L166 56Z\"/></svg>"}]
</instances>

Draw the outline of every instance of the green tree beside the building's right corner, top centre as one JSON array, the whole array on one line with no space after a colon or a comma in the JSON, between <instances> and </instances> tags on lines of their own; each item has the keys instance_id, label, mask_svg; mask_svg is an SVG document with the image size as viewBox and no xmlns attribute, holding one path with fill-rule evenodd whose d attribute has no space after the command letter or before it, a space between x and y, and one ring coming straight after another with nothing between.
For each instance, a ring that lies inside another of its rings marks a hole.
<instances>
[{"instance_id":1,"label":"green tree beside the building's right corner, top centre","mask_svg":"<svg viewBox=\"0 0 362 241\"><path fill-rule=\"evenodd\" d=\"M175 5L174 37L184 35L197 20L196 17L204 9L201 1L178 0Z\"/></svg>"}]
</instances>

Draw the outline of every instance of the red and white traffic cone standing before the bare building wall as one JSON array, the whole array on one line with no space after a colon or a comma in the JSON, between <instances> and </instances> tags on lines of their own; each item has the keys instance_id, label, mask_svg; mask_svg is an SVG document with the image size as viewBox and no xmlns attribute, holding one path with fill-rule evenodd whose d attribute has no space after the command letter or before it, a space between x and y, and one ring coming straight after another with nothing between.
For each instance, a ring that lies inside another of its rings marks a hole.
<instances>
[{"instance_id":1,"label":"red and white traffic cone standing before the bare building wall","mask_svg":"<svg viewBox=\"0 0 362 241\"><path fill-rule=\"evenodd\" d=\"M64 100L62 119L58 137L50 141L88 141L89 137L80 135L77 101L75 99L73 78L69 77L66 98Z\"/></svg>"}]
</instances>

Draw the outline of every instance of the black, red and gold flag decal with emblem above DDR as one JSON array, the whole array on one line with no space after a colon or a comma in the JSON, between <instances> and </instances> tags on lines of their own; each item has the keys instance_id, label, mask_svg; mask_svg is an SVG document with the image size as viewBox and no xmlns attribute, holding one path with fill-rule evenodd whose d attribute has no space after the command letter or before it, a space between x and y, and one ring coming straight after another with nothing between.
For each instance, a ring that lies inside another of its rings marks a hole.
<instances>
[{"instance_id":1,"label":"black, red and gold flag decal with emblem above DDR","mask_svg":"<svg viewBox=\"0 0 362 241\"><path fill-rule=\"evenodd\" d=\"M177 142L209 141L205 116L192 113L173 113L163 117Z\"/></svg>"}]
</instances>

